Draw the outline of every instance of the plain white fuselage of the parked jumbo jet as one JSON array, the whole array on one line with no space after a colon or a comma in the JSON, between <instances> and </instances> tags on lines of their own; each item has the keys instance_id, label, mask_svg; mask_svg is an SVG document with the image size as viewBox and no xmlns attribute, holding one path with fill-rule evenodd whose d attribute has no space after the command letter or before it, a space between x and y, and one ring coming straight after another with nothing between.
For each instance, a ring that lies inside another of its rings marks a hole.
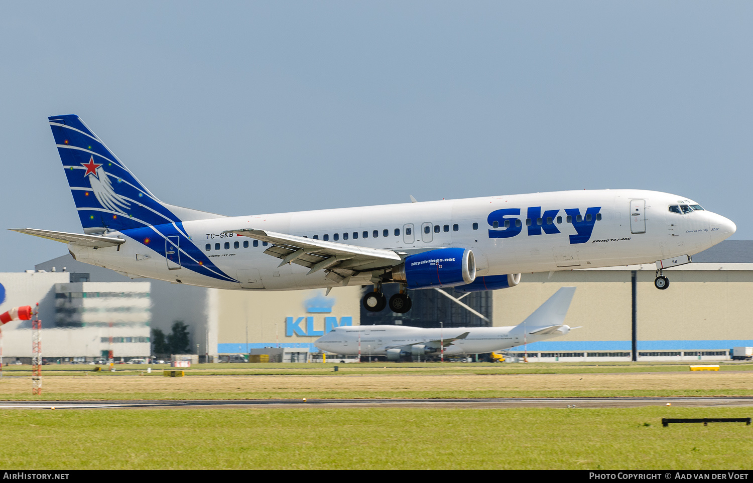
<instances>
[{"instance_id":1,"label":"plain white fuselage of the parked jumbo jet","mask_svg":"<svg viewBox=\"0 0 753 483\"><path fill-rule=\"evenodd\" d=\"M569 332L569 327L563 326L559 332L544 336L531 333L524 334L525 331L523 325L446 329L422 329L394 325L337 327L337 329L317 339L316 347L333 354L380 356L386 355L390 348L401 348L403 351L410 352L411 347L422 347L425 342L449 341L468 333L465 338L453 340L451 345L445 346L444 354L486 354L493 351L504 351L517 345L523 345L523 343L530 344L562 336ZM439 347L441 347L441 344L437 345L429 354L439 354Z\"/></svg>"}]
</instances>

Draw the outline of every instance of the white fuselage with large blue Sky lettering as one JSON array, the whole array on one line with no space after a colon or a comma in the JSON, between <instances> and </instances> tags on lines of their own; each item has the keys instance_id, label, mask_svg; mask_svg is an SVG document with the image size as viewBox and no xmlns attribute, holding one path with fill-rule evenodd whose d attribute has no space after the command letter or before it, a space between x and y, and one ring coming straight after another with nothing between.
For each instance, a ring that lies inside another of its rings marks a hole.
<instances>
[{"instance_id":1,"label":"white fuselage with large blue Sky lettering","mask_svg":"<svg viewBox=\"0 0 753 483\"><path fill-rule=\"evenodd\" d=\"M239 290L338 285L323 271L279 266L263 242L224 233L245 228L402 254L470 248L478 277L654 263L706 250L736 226L682 196L583 190L215 217L111 231L106 236L127 242L69 249L77 260L132 278ZM350 283L370 280L364 273Z\"/></svg>"}]
</instances>

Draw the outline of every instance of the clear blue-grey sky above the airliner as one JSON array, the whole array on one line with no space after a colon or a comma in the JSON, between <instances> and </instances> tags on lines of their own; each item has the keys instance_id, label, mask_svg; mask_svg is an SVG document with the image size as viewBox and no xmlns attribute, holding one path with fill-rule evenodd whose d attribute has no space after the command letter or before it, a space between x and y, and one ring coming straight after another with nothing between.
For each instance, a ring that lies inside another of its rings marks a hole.
<instances>
[{"instance_id":1,"label":"clear blue-grey sky above the airliner","mask_svg":"<svg viewBox=\"0 0 753 483\"><path fill-rule=\"evenodd\" d=\"M48 116L255 214L641 188L753 238L750 2L5 2L0 227L81 232ZM0 271L65 245L5 229Z\"/></svg>"}]
</instances>

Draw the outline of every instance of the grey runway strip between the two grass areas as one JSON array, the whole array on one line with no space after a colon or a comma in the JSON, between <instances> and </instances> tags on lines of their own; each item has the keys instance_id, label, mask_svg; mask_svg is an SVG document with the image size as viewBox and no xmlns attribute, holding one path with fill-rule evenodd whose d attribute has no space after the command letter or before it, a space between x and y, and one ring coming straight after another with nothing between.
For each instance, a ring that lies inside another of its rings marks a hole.
<instances>
[{"instance_id":1,"label":"grey runway strip between the two grass areas","mask_svg":"<svg viewBox=\"0 0 753 483\"><path fill-rule=\"evenodd\" d=\"M753 406L753 396L536 397L495 399L182 399L174 401L5 401L0 409L215 408L637 408Z\"/></svg>"}]
</instances>

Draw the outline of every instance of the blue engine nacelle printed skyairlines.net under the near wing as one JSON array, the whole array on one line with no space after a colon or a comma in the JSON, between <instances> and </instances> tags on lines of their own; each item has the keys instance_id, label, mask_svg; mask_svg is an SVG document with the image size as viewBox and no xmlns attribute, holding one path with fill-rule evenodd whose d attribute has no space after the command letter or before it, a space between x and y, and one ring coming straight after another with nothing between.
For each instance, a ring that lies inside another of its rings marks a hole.
<instances>
[{"instance_id":1,"label":"blue engine nacelle printed skyairlines.net under the near wing","mask_svg":"<svg viewBox=\"0 0 753 483\"><path fill-rule=\"evenodd\" d=\"M392 280L408 288L456 287L476 279L476 259L468 248L439 248L406 257Z\"/></svg>"}]
</instances>

